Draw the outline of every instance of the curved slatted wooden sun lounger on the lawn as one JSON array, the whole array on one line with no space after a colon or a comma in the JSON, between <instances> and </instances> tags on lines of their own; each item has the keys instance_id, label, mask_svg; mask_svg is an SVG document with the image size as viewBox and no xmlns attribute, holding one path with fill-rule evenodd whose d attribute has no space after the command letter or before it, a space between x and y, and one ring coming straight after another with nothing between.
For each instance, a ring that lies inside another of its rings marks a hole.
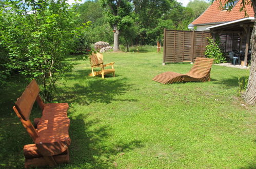
<instances>
[{"instance_id":1,"label":"curved slatted wooden sun lounger on the lawn","mask_svg":"<svg viewBox=\"0 0 256 169\"><path fill-rule=\"evenodd\" d=\"M152 80L168 84L179 81L210 81L211 66L213 59L196 57L193 67L188 73L164 72L156 75Z\"/></svg>"}]
</instances>

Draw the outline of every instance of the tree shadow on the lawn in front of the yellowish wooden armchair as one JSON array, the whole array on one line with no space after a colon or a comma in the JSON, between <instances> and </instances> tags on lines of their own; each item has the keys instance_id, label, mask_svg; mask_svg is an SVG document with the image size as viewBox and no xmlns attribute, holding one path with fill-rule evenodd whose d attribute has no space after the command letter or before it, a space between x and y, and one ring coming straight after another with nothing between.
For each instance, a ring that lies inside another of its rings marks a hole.
<instances>
[{"instance_id":1,"label":"tree shadow on the lawn in front of the yellowish wooden armchair","mask_svg":"<svg viewBox=\"0 0 256 169\"><path fill-rule=\"evenodd\" d=\"M71 87L59 88L61 96L58 101L89 105L91 102L111 103L112 101L137 101L136 99L120 99L116 96L127 91L136 90L134 85L127 82L127 78L84 77L83 71L67 75L69 79L77 80L87 78L85 83L74 83ZM90 78L90 79L89 79Z\"/></svg>"}]
</instances>

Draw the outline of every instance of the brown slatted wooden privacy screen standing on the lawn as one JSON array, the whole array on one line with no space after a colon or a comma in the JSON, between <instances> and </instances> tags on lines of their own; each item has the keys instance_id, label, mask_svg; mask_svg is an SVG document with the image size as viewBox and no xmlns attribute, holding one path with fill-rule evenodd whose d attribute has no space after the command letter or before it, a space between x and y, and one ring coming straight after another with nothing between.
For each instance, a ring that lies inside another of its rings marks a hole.
<instances>
[{"instance_id":1,"label":"brown slatted wooden privacy screen standing on the lawn","mask_svg":"<svg viewBox=\"0 0 256 169\"><path fill-rule=\"evenodd\" d=\"M163 63L193 62L196 57L205 57L207 37L210 37L210 32L164 29Z\"/></svg>"}]
</instances>

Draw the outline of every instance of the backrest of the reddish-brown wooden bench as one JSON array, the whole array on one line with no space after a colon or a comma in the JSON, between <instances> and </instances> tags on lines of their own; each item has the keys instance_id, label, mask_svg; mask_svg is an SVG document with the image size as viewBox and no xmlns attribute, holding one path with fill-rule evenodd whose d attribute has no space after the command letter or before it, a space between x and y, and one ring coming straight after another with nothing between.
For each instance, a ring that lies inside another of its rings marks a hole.
<instances>
[{"instance_id":1,"label":"backrest of the reddish-brown wooden bench","mask_svg":"<svg viewBox=\"0 0 256 169\"><path fill-rule=\"evenodd\" d=\"M40 108L44 109L44 103L38 95L39 92L40 88L38 87L36 81L33 79L23 92L22 96L17 99L13 107L14 112L21 120L22 124L24 125L25 129L27 130L33 141L35 141L38 135L29 119L29 116L35 100L40 105Z\"/></svg>"}]
</instances>

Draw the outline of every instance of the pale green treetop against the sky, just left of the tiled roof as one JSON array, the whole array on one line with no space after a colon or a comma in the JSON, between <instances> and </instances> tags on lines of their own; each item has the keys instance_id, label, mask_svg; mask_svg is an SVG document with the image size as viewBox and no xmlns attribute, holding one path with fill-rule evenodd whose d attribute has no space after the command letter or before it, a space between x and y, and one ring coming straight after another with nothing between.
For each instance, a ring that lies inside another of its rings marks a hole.
<instances>
[{"instance_id":1,"label":"pale green treetop against the sky, just left of the tiled roof","mask_svg":"<svg viewBox=\"0 0 256 169\"><path fill-rule=\"evenodd\" d=\"M209 6L210 3L207 3L203 0L190 1L187 5L188 8L193 10L194 18L198 18Z\"/></svg>"}]
</instances>

